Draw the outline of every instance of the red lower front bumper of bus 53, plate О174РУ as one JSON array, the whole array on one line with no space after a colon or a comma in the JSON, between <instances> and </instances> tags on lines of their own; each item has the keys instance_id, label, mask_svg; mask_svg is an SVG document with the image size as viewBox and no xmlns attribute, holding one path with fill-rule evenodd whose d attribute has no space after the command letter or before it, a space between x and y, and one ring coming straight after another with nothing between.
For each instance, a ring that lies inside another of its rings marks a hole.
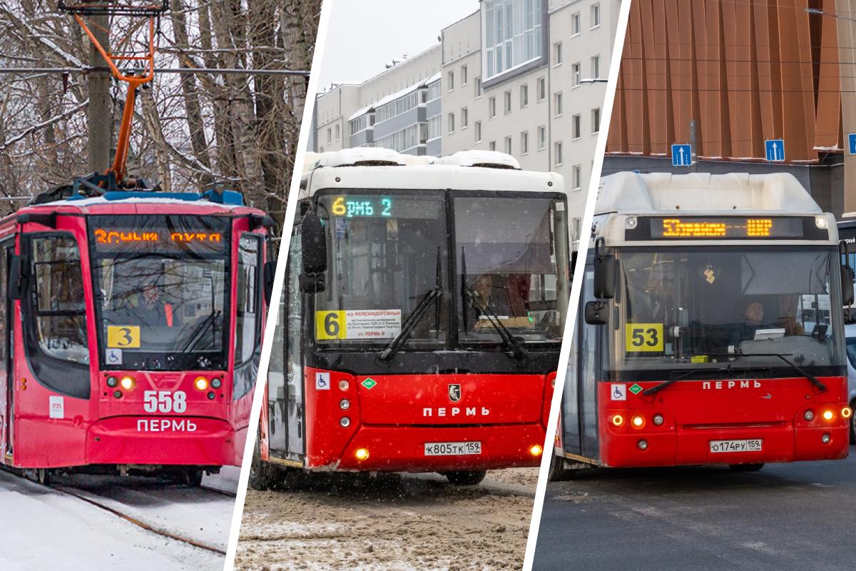
<instances>
[{"instance_id":1,"label":"red lower front bumper of bus 53, plate \u041e174\u0420\u0423","mask_svg":"<svg viewBox=\"0 0 856 571\"><path fill-rule=\"evenodd\" d=\"M829 442L824 443L824 435ZM751 452L711 452L714 440L762 439ZM639 442L645 441L645 449ZM602 449L607 467L698 466L707 464L767 464L774 462L840 460L847 458L847 425L764 426L745 428L633 431L609 434Z\"/></svg>"}]
</instances>

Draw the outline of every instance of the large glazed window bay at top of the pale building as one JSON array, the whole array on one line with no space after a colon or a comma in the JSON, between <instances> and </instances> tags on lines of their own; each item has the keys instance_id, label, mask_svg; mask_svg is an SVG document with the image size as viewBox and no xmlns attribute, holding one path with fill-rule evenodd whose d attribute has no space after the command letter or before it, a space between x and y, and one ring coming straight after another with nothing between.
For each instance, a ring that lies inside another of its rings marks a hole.
<instances>
[{"instance_id":1,"label":"large glazed window bay at top of the pale building","mask_svg":"<svg viewBox=\"0 0 856 571\"><path fill-rule=\"evenodd\" d=\"M485 0L484 78L490 79L544 55L542 7L533 0Z\"/></svg>"}]
</instances>

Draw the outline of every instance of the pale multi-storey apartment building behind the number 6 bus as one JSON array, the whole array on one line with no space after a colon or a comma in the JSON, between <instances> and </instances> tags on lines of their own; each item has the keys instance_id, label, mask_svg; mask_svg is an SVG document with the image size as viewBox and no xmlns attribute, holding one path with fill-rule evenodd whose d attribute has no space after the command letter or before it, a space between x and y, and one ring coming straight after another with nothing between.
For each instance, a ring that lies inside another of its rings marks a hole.
<instances>
[{"instance_id":1,"label":"pale multi-storey apartment building behind the number 6 bus","mask_svg":"<svg viewBox=\"0 0 856 571\"><path fill-rule=\"evenodd\" d=\"M526 170L563 175L579 219L620 6L621 0L483 0L440 31L439 45L359 86L319 95L315 149L507 152ZM579 220L577 227L579 236Z\"/></svg>"}]
</instances>

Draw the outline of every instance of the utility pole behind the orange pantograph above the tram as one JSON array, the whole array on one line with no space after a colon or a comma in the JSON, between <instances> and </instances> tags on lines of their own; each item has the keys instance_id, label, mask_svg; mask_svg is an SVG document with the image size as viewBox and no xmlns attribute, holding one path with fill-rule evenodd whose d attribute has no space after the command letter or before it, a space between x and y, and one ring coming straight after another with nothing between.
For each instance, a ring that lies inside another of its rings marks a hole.
<instances>
[{"instance_id":1,"label":"utility pole behind the orange pantograph above the tram","mask_svg":"<svg viewBox=\"0 0 856 571\"><path fill-rule=\"evenodd\" d=\"M110 16L92 15L92 33L104 50L110 51ZM86 123L89 127L89 171L103 173L110 167L110 147L113 142L113 116L110 105L110 70L98 50L89 44L89 65L98 68L88 74L89 108Z\"/></svg>"}]
</instances>

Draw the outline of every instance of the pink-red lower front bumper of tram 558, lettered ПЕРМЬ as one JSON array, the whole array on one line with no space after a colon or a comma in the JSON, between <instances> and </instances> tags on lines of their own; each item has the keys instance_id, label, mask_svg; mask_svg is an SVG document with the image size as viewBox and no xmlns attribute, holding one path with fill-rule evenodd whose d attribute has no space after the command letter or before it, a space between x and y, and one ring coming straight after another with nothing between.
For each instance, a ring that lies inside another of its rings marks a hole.
<instances>
[{"instance_id":1,"label":"pink-red lower front bumper of tram 558, lettered \u041f\u0415\u0420\u041c\u042c","mask_svg":"<svg viewBox=\"0 0 856 571\"><path fill-rule=\"evenodd\" d=\"M220 419L122 416L86 431L87 464L224 466L236 452L235 430Z\"/></svg>"}]
</instances>

